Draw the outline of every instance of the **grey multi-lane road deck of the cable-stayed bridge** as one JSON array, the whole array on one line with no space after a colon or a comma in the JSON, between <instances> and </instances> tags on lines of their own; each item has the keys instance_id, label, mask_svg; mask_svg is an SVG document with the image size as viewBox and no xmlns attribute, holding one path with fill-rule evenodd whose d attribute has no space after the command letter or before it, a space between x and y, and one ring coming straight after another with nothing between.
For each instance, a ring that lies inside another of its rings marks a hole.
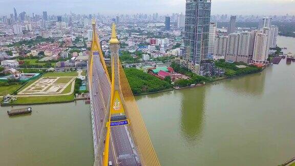
<instances>
[{"instance_id":1,"label":"grey multi-lane road deck of the cable-stayed bridge","mask_svg":"<svg viewBox=\"0 0 295 166\"><path fill-rule=\"evenodd\" d=\"M102 143L106 138L106 111L108 109L108 105L110 105L110 93L111 87L110 82L106 74L103 71L103 67L100 63L99 55L93 56L93 76L92 76L92 97L93 97L93 108L95 109L95 123L99 135L98 144ZM103 108L103 109L101 109ZM103 122L100 121L103 119ZM129 136L129 130L127 127L118 126L111 128L111 142L109 149L109 161L112 161L113 165L140 165L137 162L136 149L133 146L133 142L131 137ZM104 146L102 146L104 147ZM134 147L134 149L133 149ZM103 149L98 150L98 154L102 154Z\"/></svg>"}]
</instances>

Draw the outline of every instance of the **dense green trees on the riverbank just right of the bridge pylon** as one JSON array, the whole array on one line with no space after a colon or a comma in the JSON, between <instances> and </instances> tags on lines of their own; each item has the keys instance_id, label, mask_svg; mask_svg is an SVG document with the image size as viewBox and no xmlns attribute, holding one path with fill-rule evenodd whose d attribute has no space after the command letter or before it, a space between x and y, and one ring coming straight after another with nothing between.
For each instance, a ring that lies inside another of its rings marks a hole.
<instances>
[{"instance_id":1,"label":"dense green trees on the riverbank just right of the bridge pylon","mask_svg":"<svg viewBox=\"0 0 295 166\"><path fill-rule=\"evenodd\" d=\"M133 94L157 92L172 88L167 81L161 80L135 68L124 69Z\"/></svg>"}]
</instances>

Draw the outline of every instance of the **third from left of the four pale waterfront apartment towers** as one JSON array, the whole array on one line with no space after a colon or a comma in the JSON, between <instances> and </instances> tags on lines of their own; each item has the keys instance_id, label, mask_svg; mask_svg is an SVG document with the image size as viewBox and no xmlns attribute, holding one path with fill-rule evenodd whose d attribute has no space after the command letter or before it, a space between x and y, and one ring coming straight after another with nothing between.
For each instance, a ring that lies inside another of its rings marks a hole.
<instances>
[{"instance_id":1,"label":"third from left of the four pale waterfront apartment towers","mask_svg":"<svg viewBox=\"0 0 295 166\"><path fill-rule=\"evenodd\" d=\"M250 45L250 32L242 32L239 34L239 47L237 61L242 61L243 63L248 63L249 56L249 45Z\"/></svg>"}]
</instances>

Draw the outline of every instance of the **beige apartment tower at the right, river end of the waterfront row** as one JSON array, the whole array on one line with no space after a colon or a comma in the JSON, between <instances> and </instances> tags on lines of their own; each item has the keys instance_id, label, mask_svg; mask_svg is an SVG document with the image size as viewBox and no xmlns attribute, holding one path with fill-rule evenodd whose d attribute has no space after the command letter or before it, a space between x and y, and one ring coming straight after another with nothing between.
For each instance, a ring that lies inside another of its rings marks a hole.
<instances>
[{"instance_id":1,"label":"beige apartment tower at the right, river end of the waterfront row","mask_svg":"<svg viewBox=\"0 0 295 166\"><path fill-rule=\"evenodd\" d=\"M263 64L268 58L267 48L267 34L257 33L255 36L254 51L253 51L253 63Z\"/></svg>"}]
</instances>

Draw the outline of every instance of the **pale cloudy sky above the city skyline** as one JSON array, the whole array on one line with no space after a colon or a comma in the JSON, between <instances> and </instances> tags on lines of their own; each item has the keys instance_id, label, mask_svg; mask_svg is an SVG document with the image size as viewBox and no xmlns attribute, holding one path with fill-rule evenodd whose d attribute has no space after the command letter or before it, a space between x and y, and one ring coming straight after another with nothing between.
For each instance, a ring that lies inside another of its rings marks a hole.
<instances>
[{"instance_id":1,"label":"pale cloudy sky above the city skyline","mask_svg":"<svg viewBox=\"0 0 295 166\"><path fill-rule=\"evenodd\" d=\"M180 13L185 0L0 0L0 15L13 13ZM295 15L295 0L212 0L212 14Z\"/></svg>"}]
</instances>

